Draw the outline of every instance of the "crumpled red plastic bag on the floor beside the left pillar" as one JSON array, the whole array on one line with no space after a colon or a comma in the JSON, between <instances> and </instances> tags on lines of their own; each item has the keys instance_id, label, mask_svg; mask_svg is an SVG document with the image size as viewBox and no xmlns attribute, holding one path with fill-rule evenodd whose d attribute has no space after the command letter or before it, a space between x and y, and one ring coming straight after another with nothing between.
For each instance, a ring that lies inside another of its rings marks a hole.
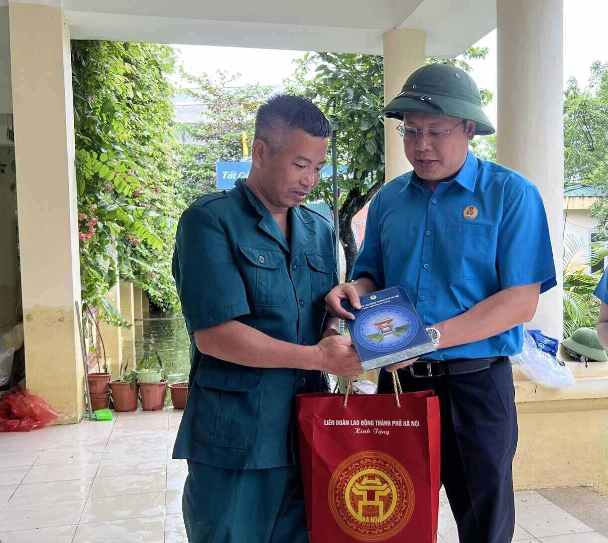
<instances>
[{"instance_id":1,"label":"crumpled red plastic bag on the floor beside the left pillar","mask_svg":"<svg viewBox=\"0 0 608 543\"><path fill-rule=\"evenodd\" d=\"M30 432L58 418L40 396L13 387L0 396L0 432Z\"/></svg>"}]
</instances>

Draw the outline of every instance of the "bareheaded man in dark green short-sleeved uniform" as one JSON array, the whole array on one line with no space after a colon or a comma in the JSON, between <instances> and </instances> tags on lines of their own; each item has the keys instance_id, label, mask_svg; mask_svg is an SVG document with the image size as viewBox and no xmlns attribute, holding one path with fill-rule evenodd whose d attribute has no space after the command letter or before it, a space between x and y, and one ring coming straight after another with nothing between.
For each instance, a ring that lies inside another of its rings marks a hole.
<instances>
[{"instance_id":1,"label":"bareheaded man in dark green short-sleeved uniform","mask_svg":"<svg viewBox=\"0 0 608 543\"><path fill-rule=\"evenodd\" d=\"M190 543L308 541L294 396L326 390L323 371L362 373L350 339L323 331L333 229L300 206L329 131L309 100L272 97L257 113L247 181L179 221L173 275L193 356L173 458L188 460Z\"/></svg>"}]
</instances>

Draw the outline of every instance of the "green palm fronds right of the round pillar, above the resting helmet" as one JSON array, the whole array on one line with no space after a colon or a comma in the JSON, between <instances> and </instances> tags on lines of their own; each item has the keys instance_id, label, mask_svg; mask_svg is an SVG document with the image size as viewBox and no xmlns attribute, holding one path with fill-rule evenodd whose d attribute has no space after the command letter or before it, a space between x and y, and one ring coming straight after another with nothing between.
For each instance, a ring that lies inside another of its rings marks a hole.
<instances>
[{"instance_id":1,"label":"green palm fronds right of the round pillar, above the resting helmet","mask_svg":"<svg viewBox=\"0 0 608 543\"><path fill-rule=\"evenodd\" d=\"M564 338L570 337L577 328L596 328L599 302L593 296L593 290L601 272L588 273L587 268L606 256L606 241L588 243L572 234L564 237Z\"/></svg>"}]
</instances>

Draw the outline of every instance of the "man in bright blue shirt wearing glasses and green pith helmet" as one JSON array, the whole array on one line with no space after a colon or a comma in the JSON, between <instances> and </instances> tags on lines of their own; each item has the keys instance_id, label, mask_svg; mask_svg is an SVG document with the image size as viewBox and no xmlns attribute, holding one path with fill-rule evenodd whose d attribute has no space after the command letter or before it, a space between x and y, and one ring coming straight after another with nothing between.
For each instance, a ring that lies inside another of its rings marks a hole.
<instances>
[{"instance_id":1,"label":"man in bright blue shirt wearing glasses and green pith helmet","mask_svg":"<svg viewBox=\"0 0 608 543\"><path fill-rule=\"evenodd\" d=\"M438 350L388 369L404 391L439 396L441 481L460 542L510 543L517 416L508 357L522 348L539 294L556 284L541 195L469 152L476 134L494 128L460 69L416 70L384 113L402 121L413 172L371 201L353 281L335 287L326 306L352 318L341 300L358 307L359 295L406 287ZM381 371L379 392L392 391L388 376Z\"/></svg>"}]
</instances>

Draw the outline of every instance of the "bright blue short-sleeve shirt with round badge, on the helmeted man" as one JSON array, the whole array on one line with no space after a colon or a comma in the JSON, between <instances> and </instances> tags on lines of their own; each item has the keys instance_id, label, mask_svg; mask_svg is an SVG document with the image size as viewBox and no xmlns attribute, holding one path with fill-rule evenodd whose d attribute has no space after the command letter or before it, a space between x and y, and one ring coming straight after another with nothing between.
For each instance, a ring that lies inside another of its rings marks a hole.
<instances>
[{"instance_id":1,"label":"bright blue short-sleeve shirt with round badge, on the helmeted man","mask_svg":"<svg viewBox=\"0 0 608 543\"><path fill-rule=\"evenodd\" d=\"M373 198L365 239L351 272L379 288L406 287L426 326L456 317L508 287L556 285L547 215L536 186L519 173L469 152L456 177L432 193L415 172ZM437 360L511 356L523 326Z\"/></svg>"}]
</instances>

